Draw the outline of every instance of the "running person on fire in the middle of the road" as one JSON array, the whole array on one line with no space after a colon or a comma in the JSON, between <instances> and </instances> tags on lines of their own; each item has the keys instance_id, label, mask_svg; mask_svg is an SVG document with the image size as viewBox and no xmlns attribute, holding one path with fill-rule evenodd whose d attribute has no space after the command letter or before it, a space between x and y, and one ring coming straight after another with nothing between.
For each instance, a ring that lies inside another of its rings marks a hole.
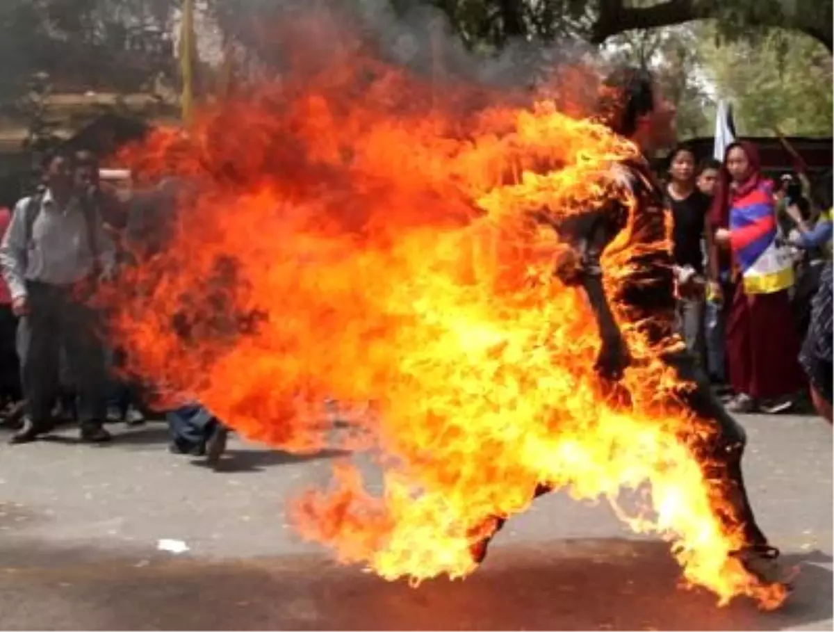
<instances>
[{"instance_id":1,"label":"running person on fire in the middle of the road","mask_svg":"<svg viewBox=\"0 0 834 632\"><path fill-rule=\"evenodd\" d=\"M607 123L615 133L630 138L644 154L671 147L675 109L661 97L650 73L621 69L606 85L615 95L604 103ZM699 432L701 428L693 424L692 436L684 439L693 446L706 477L714 484L713 511L727 533L738 535L740 546L733 558L761 584L787 588L789 577L776 563L779 551L756 524L746 493L741 474L745 432L716 399L706 375L676 334L675 266L661 187L643 158L615 163L610 178L615 186L625 186L631 205L612 198L587 213L554 219L545 210L538 218L554 228L561 243L570 246L557 258L555 274L584 290L593 309L601 339L595 370L610 399L623 406L630 394L621 379L636 361L629 349L633 340L629 336L636 335L645 349L651 349L674 371L677 385L662 405L678 410L685 407L684 412L688 409L706 424L706 432ZM617 273L607 274L605 250L615 241L629 254L627 260L617 262ZM551 489L548 484L539 484L535 496ZM490 524L473 529L473 533L488 533L472 547L476 563L485 559L490 540L505 519L495 516Z\"/></svg>"}]
</instances>

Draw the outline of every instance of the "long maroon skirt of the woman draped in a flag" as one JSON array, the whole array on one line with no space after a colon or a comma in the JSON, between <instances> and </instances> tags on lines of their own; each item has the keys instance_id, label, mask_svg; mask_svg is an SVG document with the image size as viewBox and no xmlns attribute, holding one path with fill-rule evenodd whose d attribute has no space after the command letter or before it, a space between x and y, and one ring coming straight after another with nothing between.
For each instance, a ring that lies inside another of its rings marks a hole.
<instances>
[{"instance_id":1,"label":"long maroon skirt of the woman draped in a flag","mask_svg":"<svg viewBox=\"0 0 834 632\"><path fill-rule=\"evenodd\" d=\"M800 346L787 290L746 294L738 283L726 329L730 384L736 393L775 399L804 389Z\"/></svg>"}]
</instances>

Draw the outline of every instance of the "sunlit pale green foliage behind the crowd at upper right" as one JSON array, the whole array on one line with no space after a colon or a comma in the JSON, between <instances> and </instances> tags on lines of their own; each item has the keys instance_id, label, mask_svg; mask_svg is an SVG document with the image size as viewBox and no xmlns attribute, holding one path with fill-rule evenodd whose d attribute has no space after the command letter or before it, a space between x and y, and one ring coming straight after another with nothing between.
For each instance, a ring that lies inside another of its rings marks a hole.
<instances>
[{"instance_id":1,"label":"sunlit pale green foliage behind the crowd at upper right","mask_svg":"<svg viewBox=\"0 0 834 632\"><path fill-rule=\"evenodd\" d=\"M818 41L774 30L761 40L716 45L701 40L704 68L735 104L747 135L828 135L834 129L834 58Z\"/></svg>"}]
</instances>

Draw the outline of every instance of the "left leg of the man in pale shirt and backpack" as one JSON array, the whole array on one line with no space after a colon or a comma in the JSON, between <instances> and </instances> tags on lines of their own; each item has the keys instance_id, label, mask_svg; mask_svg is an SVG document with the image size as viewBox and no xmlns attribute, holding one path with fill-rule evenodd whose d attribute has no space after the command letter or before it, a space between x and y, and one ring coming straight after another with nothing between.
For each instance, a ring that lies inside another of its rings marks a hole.
<instances>
[{"instance_id":1,"label":"left leg of the man in pale shirt and backpack","mask_svg":"<svg viewBox=\"0 0 834 632\"><path fill-rule=\"evenodd\" d=\"M31 283L29 313L18 323L21 385L26 399L23 428L12 443L27 443L48 430L58 385L58 308L56 288Z\"/></svg>"}]
</instances>

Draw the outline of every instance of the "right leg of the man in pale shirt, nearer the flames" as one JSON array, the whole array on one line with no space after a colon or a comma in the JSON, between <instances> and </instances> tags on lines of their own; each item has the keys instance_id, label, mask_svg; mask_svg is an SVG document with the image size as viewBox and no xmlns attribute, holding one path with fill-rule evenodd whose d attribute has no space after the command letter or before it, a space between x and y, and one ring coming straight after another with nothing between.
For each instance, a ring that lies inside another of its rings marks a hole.
<instances>
[{"instance_id":1,"label":"right leg of the man in pale shirt, nearer the flames","mask_svg":"<svg viewBox=\"0 0 834 632\"><path fill-rule=\"evenodd\" d=\"M103 429L107 419L107 375L104 349L95 329L96 314L87 306L63 296L61 337L67 354L68 369L78 391L78 422L81 437L101 442L110 439Z\"/></svg>"}]
</instances>

